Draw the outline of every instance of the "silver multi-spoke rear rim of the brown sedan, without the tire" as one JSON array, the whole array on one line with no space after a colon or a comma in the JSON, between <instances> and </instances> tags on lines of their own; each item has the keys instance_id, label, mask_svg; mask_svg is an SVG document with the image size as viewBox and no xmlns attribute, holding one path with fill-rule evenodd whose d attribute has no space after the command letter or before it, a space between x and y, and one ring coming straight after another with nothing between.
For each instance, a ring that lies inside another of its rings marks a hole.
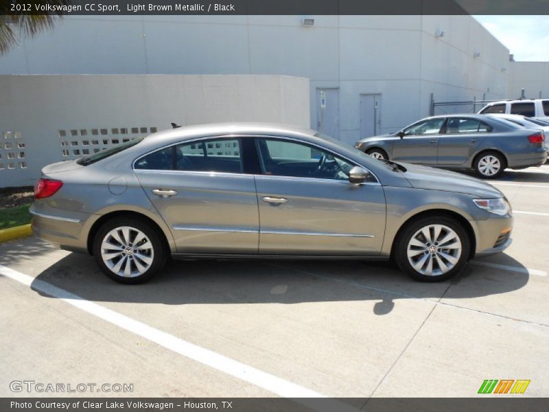
<instances>
[{"instance_id":1,"label":"silver multi-spoke rear rim of the brown sedan, without the tire","mask_svg":"<svg viewBox=\"0 0 549 412\"><path fill-rule=\"evenodd\" d=\"M154 260L150 239L135 227L121 226L109 231L101 243L104 264L121 277L143 275Z\"/></svg>"}]
</instances>

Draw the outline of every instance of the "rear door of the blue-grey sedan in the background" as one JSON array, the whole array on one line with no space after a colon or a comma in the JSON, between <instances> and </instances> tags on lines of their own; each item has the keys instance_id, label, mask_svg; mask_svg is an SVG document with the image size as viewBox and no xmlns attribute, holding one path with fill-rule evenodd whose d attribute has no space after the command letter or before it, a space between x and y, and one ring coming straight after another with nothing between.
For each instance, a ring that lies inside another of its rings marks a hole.
<instances>
[{"instance_id":1,"label":"rear door of the blue-grey sedan in the background","mask_svg":"<svg viewBox=\"0 0 549 412\"><path fill-rule=\"evenodd\" d=\"M471 117L449 117L441 139L437 163L439 165L463 165L473 155L480 142L492 128Z\"/></svg>"}]
</instances>

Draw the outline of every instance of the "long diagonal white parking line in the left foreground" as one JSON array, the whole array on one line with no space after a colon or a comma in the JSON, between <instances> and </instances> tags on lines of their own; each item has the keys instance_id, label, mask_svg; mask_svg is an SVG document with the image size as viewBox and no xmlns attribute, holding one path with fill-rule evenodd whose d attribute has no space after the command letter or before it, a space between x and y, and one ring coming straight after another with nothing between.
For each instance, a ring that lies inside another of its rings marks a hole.
<instances>
[{"instance_id":1,"label":"long diagonal white parking line in the left foreground","mask_svg":"<svg viewBox=\"0 0 549 412\"><path fill-rule=\"evenodd\" d=\"M277 378L277 376L260 371L255 367L240 363L211 350L207 350L204 347L194 345L194 343L184 341L183 339L163 332L162 330L152 328L152 326L136 321L135 319L127 317L124 314L120 314L114 310L104 308L104 306L87 301L86 299L78 295L74 295L67 290L58 288L57 286L53 286L42 280L34 279L34 277L25 275L25 273L14 271L11 268L0 265L0 275L9 277L10 279L16 280L26 286L32 285L34 290L38 290L46 295L61 299L75 308L79 308L84 310L84 312L93 314L94 316L112 323L119 328L128 330L128 332L135 333L143 339L148 339L149 341L161 345L166 349L172 350L173 352L202 363L203 365L207 365L213 369L217 369L218 371L222 371L225 374L234 376L235 378L242 379L252 385L261 387L272 393L276 393L279 396L286 398L325 398L325 396L320 393L296 385L288 380ZM344 406L344 404L334 401L334 407L338 407L338 409L340 409Z\"/></svg>"}]
</instances>

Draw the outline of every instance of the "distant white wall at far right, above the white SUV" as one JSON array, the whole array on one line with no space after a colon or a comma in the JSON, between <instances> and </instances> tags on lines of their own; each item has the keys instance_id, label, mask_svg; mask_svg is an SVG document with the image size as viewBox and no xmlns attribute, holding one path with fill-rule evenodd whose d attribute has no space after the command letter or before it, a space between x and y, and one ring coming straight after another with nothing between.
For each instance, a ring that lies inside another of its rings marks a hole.
<instances>
[{"instance_id":1,"label":"distant white wall at far right, above the white SUV","mask_svg":"<svg viewBox=\"0 0 549 412\"><path fill-rule=\"evenodd\" d=\"M549 98L549 62L510 62L509 99L519 98L521 90L529 99Z\"/></svg>"}]
</instances>

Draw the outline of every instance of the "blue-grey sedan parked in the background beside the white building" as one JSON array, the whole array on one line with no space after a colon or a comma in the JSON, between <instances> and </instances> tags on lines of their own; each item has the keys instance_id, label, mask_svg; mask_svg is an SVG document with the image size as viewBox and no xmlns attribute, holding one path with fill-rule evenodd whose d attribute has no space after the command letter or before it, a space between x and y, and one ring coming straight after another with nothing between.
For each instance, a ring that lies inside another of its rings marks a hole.
<instances>
[{"instance_id":1,"label":"blue-grey sedan parked in the background beside the white building","mask_svg":"<svg viewBox=\"0 0 549 412\"><path fill-rule=\"evenodd\" d=\"M547 160L544 132L487 115L422 119L397 133L366 137L355 148L376 159L437 168L474 169L485 179L505 168L539 166Z\"/></svg>"}]
</instances>

